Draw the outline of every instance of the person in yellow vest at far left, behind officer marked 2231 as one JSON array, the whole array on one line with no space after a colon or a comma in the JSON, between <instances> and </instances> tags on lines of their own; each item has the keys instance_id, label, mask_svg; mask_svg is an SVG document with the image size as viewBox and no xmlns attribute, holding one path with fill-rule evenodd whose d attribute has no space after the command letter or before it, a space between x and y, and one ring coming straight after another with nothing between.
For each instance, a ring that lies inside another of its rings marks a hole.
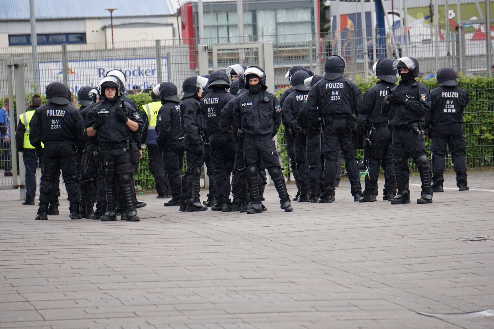
<instances>
[{"instance_id":1,"label":"person in yellow vest at far left, behind officer marked 2231","mask_svg":"<svg viewBox=\"0 0 494 329\"><path fill-rule=\"evenodd\" d=\"M38 157L36 149L29 143L29 121L33 117L36 109L41 106L40 95L33 95L31 98L31 109L20 115L17 131L15 132L15 142L17 149L22 152L24 166L26 167L26 200L23 205L34 205L36 196L36 168L38 167Z\"/></svg>"}]
</instances>

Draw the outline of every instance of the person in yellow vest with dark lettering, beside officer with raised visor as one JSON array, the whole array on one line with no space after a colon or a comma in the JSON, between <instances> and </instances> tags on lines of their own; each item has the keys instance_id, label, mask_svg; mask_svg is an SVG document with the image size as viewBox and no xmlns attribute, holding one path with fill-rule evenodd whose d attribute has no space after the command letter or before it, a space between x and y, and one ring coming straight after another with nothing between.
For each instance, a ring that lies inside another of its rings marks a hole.
<instances>
[{"instance_id":1,"label":"person in yellow vest with dark lettering, beside officer with raised visor","mask_svg":"<svg viewBox=\"0 0 494 329\"><path fill-rule=\"evenodd\" d=\"M165 199L169 197L170 185L166 179L166 171L163 166L163 155L156 142L156 119L158 118L158 111L162 107L160 96L156 96L151 92L152 102L142 106L142 119L144 120L144 126L142 128L141 142L146 144L148 149L148 165L149 171L155 178L156 191L158 192L158 199Z\"/></svg>"}]
</instances>

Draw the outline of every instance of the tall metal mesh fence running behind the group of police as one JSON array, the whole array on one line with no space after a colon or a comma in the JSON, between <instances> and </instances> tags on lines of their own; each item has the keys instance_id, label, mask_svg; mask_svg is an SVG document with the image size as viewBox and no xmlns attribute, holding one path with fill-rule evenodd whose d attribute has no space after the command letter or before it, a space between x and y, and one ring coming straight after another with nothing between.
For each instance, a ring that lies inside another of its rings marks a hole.
<instances>
[{"instance_id":1,"label":"tall metal mesh fence running behind the group of police","mask_svg":"<svg viewBox=\"0 0 494 329\"><path fill-rule=\"evenodd\" d=\"M468 164L469 166L492 165L494 120L492 80L484 79L482 82L479 79L468 79L486 75L490 70L487 65L485 35L482 39L478 33L468 29L449 33L439 33L428 27L414 29L413 35L407 34L406 29L399 28L386 31L384 34L378 29L353 30L340 34L327 33L322 34L319 41L314 41L313 34L292 34L206 38L200 42L197 39L116 42L115 49L108 49L108 44L105 43L49 45L38 47L38 64L33 58L30 47L0 48L0 54L12 54L13 57L25 59L25 89L30 95L35 91L43 94L46 85L53 81L64 82L74 94L77 94L84 85L96 86L104 74L111 69L120 69L125 73L129 94L149 91L159 81L171 81L181 92L182 81L188 76L199 73L197 43L207 46L210 73L215 65L212 56L213 44L273 42L275 90L272 92L278 93L289 86L285 74L293 65L311 68L315 74L322 74L326 58L339 54L347 61L346 76L360 83L373 77L372 66L378 58L412 56L419 61L420 71L426 79L432 79L442 67L453 67L467 78L462 80L464 81L462 86L474 95L467 108L464 126ZM217 51L218 69L225 69L236 63L247 66L258 65L259 49L237 48ZM0 96L3 98L6 95L4 78L6 71L5 65L0 64ZM480 90L483 91L482 95ZM132 96L139 105L151 101L147 93ZM282 166L290 176L283 131L279 134L278 147ZM1 154L4 152L2 151ZM4 162L0 163L0 170L3 170L4 166ZM451 161L449 167L451 168ZM1 176L2 173L1 171ZM0 179L8 180L3 176ZM3 181L1 184L4 184ZM136 185L144 190L154 187L154 179L147 170L146 152L143 153L136 174Z\"/></svg>"}]
</instances>

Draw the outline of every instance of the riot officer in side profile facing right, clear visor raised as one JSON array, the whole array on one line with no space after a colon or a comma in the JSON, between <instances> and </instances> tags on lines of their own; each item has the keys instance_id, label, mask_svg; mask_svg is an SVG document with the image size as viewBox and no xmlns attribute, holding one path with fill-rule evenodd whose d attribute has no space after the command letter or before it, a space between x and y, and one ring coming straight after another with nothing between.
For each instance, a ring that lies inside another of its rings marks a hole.
<instances>
[{"instance_id":1,"label":"riot officer in side profile facing right, clear visor raised","mask_svg":"<svg viewBox=\"0 0 494 329\"><path fill-rule=\"evenodd\" d=\"M180 211L205 211L207 207L199 201L201 190L201 168L204 165L204 141L206 140L206 118L201 111L201 95L207 78L191 76L182 83L180 110L184 120L187 169L182 178Z\"/></svg>"}]
</instances>

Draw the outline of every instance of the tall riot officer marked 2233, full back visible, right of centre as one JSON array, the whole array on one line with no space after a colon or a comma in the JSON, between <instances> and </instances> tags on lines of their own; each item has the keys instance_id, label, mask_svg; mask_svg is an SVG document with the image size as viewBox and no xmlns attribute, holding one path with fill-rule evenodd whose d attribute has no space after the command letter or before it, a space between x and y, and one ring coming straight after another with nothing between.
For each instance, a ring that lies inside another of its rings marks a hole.
<instances>
[{"instance_id":1,"label":"tall riot officer marked 2233, full back visible, right of centre","mask_svg":"<svg viewBox=\"0 0 494 329\"><path fill-rule=\"evenodd\" d=\"M343 77L345 66L344 58L329 56L324 65L324 79L311 88L307 98L309 125L315 128L319 126L319 122L323 124L321 154L326 161L323 195L318 200L320 203L334 201L338 142L343 151L354 201L359 201L362 194L355 158L353 120L353 114L358 113L358 105L362 102L362 92L355 83Z\"/></svg>"}]
</instances>

